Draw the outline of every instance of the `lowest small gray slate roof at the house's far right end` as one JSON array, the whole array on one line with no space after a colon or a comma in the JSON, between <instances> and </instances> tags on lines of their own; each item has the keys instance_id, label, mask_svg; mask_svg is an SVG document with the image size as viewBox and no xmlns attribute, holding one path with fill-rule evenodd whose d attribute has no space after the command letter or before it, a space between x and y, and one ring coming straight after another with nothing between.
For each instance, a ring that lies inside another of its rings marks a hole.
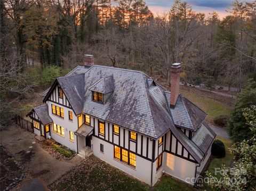
<instances>
[{"instance_id":1,"label":"lowest small gray slate roof at the house's far right end","mask_svg":"<svg viewBox=\"0 0 256 191\"><path fill-rule=\"evenodd\" d=\"M203 122L202 127L196 131L192 140L203 153L206 153L215 136L215 132Z\"/></svg>"}]
</instances>

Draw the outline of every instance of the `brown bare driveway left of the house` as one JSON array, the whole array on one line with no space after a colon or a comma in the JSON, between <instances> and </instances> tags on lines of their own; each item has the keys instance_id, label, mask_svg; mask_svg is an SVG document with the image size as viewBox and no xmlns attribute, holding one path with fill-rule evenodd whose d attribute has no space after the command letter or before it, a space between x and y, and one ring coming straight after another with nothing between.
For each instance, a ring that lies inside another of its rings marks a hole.
<instances>
[{"instance_id":1,"label":"brown bare driveway left of the house","mask_svg":"<svg viewBox=\"0 0 256 191\"><path fill-rule=\"evenodd\" d=\"M34 137L35 134L16 124L12 124L0 133L1 144L23 165L26 171L21 187L33 178L40 179L44 185L49 185L66 171L81 163L82 158L77 155L68 162L56 160L37 144L38 140Z\"/></svg>"}]
</instances>

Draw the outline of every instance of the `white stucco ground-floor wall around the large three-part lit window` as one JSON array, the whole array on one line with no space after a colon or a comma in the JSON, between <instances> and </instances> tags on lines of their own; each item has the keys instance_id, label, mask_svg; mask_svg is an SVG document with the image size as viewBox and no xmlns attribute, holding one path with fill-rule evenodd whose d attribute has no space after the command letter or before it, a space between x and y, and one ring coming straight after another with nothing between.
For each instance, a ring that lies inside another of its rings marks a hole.
<instances>
[{"instance_id":1,"label":"white stucco ground-floor wall around the large three-part lit window","mask_svg":"<svg viewBox=\"0 0 256 191\"><path fill-rule=\"evenodd\" d=\"M103 144L104 153L100 152L100 144ZM121 161L114 159L114 145L105 142L97 137L92 137L93 154L101 160L113 165L114 167L138 178L150 185L151 182L151 161L136 156L136 168L129 167Z\"/></svg>"}]
</instances>

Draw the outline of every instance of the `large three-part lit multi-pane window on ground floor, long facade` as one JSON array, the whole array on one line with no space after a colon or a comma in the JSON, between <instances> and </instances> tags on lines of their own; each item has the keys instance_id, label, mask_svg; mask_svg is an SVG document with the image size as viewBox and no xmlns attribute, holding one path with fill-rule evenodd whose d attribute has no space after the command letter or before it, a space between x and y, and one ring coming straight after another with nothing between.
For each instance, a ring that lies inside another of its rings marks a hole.
<instances>
[{"instance_id":1,"label":"large three-part lit multi-pane window on ground floor, long facade","mask_svg":"<svg viewBox=\"0 0 256 191\"><path fill-rule=\"evenodd\" d=\"M118 146L114 146L114 157L136 167L136 155Z\"/></svg>"}]
</instances>

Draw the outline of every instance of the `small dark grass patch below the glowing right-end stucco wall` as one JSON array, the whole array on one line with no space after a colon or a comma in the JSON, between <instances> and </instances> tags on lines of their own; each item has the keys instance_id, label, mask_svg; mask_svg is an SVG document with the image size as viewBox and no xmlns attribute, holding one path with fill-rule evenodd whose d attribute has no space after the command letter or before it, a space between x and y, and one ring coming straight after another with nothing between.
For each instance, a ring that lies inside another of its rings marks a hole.
<instances>
[{"instance_id":1,"label":"small dark grass patch below the glowing right-end stucco wall","mask_svg":"<svg viewBox=\"0 0 256 191\"><path fill-rule=\"evenodd\" d=\"M161 181L149 189L150 191L165 191L165 190L182 190L182 191L196 191L193 186L187 185L179 180L175 180L169 176L163 175Z\"/></svg>"}]
</instances>

